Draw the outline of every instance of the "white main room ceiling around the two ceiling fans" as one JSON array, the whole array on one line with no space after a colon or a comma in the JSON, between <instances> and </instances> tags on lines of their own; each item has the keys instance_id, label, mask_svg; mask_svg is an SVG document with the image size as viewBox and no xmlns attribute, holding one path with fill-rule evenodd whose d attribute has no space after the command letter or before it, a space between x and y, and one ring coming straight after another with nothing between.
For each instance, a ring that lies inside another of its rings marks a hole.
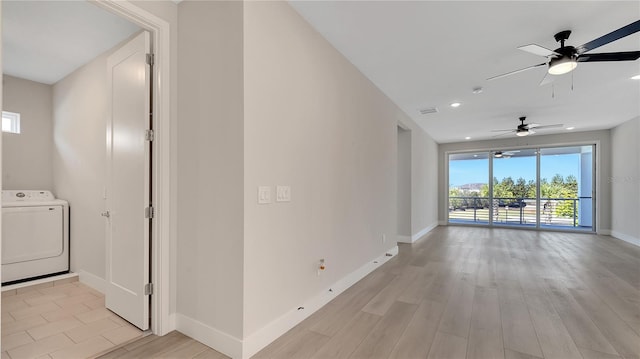
<instances>
[{"instance_id":1,"label":"white main room ceiling around the two ceiling fans","mask_svg":"<svg viewBox=\"0 0 640 359\"><path fill-rule=\"evenodd\" d=\"M516 49L578 46L640 19L639 1L290 1L338 51L437 142L491 139L519 116L574 131L612 128L640 116L640 60L580 63L553 85L546 68L487 81L545 62ZM594 53L640 50L640 32ZM573 90L571 89L573 82ZM481 94L473 94L476 86ZM552 98L552 94L555 97ZM457 109L449 107L462 102ZM435 106L438 113L420 115ZM563 128L539 131L550 134ZM509 134L512 136L513 134Z\"/></svg>"}]
</instances>

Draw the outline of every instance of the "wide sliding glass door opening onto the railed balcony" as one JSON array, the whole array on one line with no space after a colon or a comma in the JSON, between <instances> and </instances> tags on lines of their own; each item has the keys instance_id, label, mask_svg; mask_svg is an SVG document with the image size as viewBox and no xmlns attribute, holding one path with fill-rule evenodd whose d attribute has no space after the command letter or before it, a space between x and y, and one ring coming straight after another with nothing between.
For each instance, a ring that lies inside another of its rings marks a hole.
<instances>
[{"instance_id":1,"label":"wide sliding glass door opening onto the railed balcony","mask_svg":"<svg viewBox=\"0 0 640 359\"><path fill-rule=\"evenodd\" d=\"M448 220L595 231L594 153L584 145L450 154Z\"/></svg>"}]
</instances>

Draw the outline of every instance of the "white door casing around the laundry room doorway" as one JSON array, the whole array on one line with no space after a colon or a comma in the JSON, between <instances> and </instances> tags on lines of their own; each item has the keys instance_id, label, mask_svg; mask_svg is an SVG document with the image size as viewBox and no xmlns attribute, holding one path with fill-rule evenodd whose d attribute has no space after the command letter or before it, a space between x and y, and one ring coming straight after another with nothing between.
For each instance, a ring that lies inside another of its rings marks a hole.
<instances>
[{"instance_id":1,"label":"white door casing around the laundry room doorway","mask_svg":"<svg viewBox=\"0 0 640 359\"><path fill-rule=\"evenodd\" d=\"M151 33L151 49L155 56L153 66L153 128L151 143L153 181L152 199L155 214L151 227L151 331L164 335L175 329L175 316L171 315L171 303L175 291L171 290L171 263L175 263L175 250L171 238L175 238L175 215L171 215L171 203L175 202L175 184L171 182L171 28L167 21L141 9L129 1L101 0L91 3L110 11ZM172 254L173 253L173 254Z\"/></svg>"}]
</instances>

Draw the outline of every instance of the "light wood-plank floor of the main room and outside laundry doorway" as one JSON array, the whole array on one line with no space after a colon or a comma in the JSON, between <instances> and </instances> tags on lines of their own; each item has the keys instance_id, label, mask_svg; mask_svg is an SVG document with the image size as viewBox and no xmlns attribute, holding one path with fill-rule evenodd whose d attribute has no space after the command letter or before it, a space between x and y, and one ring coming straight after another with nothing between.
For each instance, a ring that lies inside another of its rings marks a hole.
<instances>
[{"instance_id":1,"label":"light wood-plank floor of the main room and outside laundry doorway","mask_svg":"<svg viewBox=\"0 0 640 359\"><path fill-rule=\"evenodd\" d=\"M224 358L172 333L102 358L204 356ZM253 358L639 357L640 248L606 236L448 226L401 244Z\"/></svg>"}]
</instances>

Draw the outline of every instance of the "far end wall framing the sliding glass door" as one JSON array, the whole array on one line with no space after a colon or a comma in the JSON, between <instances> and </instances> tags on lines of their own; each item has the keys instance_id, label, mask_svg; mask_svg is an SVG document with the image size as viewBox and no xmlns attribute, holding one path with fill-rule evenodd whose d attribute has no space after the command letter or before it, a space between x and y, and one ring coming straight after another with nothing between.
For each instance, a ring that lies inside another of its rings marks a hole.
<instances>
[{"instance_id":1,"label":"far end wall framing the sliding glass door","mask_svg":"<svg viewBox=\"0 0 640 359\"><path fill-rule=\"evenodd\" d=\"M589 131L589 132L567 132L556 135L534 135L527 137L513 136L494 141L474 141L446 143L438 146L438 213L441 222L446 223L448 216L447 199L447 152L475 151L475 150L500 150L513 149L519 147L547 146L547 145L569 145L569 144L592 144L596 146L596 157L599 162L596 164L596 230L598 233L608 234L611 231L611 186L609 177L611 176L611 134L609 130Z\"/></svg>"}]
</instances>

